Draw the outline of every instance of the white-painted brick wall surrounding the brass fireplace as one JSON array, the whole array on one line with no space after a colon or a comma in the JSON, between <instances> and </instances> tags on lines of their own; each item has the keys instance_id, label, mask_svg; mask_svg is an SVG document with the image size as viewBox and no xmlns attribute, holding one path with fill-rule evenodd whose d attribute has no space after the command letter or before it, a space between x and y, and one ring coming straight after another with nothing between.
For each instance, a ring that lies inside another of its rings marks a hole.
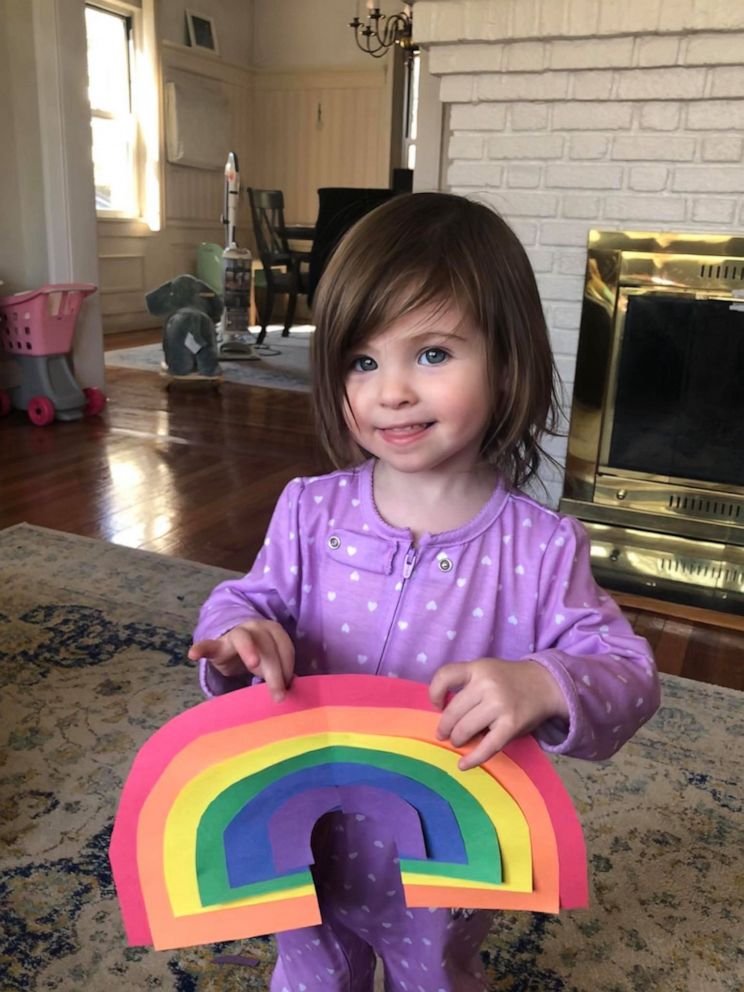
<instances>
[{"instance_id":1,"label":"white-painted brick wall surrounding the brass fireplace","mask_svg":"<svg viewBox=\"0 0 744 992\"><path fill-rule=\"evenodd\" d=\"M589 229L744 231L744 3L419 0L414 21L446 188L527 248L568 409ZM557 503L560 474L544 482Z\"/></svg>"}]
</instances>

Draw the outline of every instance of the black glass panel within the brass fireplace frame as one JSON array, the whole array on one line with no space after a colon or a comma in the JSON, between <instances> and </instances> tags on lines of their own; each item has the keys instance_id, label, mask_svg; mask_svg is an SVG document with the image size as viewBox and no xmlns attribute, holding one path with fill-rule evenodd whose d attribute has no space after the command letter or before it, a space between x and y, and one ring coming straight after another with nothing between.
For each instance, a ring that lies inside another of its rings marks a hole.
<instances>
[{"instance_id":1,"label":"black glass panel within the brass fireplace frame","mask_svg":"<svg viewBox=\"0 0 744 992\"><path fill-rule=\"evenodd\" d=\"M627 303L609 466L744 486L744 304Z\"/></svg>"}]
</instances>

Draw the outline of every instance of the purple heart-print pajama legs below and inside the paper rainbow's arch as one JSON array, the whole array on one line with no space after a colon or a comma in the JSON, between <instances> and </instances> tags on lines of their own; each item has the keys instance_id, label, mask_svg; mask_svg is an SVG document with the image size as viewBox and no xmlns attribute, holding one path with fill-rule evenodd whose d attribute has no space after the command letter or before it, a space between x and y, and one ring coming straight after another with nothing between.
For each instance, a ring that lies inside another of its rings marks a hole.
<instances>
[{"instance_id":1,"label":"purple heart-print pajama legs below and inside the paper rainbow's arch","mask_svg":"<svg viewBox=\"0 0 744 992\"><path fill-rule=\"evenodd\" d=\"M371 992L375 952L392 992L482 992L493 913L407 909L385 825L333 813L313 836L324 924L277 934L271 992Z\"/></svg>"}]
</instances>

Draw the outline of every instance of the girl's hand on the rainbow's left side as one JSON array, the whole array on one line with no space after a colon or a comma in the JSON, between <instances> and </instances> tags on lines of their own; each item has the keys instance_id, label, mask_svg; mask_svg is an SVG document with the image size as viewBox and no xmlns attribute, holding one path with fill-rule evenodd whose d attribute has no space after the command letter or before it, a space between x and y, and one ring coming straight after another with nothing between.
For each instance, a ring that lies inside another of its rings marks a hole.
<instances>
[{"instance_id":1,"label":"girl's hand on the rainbow's left side","mask_svg":"<svg viewBox=\"0 0 744 992\"><path fill-rule=\"evenodd\" d=\"M248 620L215 640L197 641L188 656L191 661L206 658L227 678L246 672L258 676L277 703L284 699L294 674L294 644L274 620Z\"/></svg>"}]
</instances>

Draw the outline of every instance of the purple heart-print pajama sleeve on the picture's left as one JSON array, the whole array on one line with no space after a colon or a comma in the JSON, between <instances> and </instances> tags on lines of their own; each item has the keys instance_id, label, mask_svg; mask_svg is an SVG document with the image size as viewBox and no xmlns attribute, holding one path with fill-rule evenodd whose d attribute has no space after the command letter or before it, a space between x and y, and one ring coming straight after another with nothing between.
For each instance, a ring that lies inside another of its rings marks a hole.
<instances>
[{"instance_id":1,"label":"purple heart-print pajama sleeve on the picture's left","mask_svg":"<svg viewBox=\"0 0 744 992\"><path fill-rule=\"evenodd\" d=\"M275 620L294 636L298 591L302 582L299 507L304 482L294 479L279 497L263 546L242 578L221 582L199 613L194 642L221 637L247 620ZM221 695L248 684L227 678L202 658L199 681L207 696Z\"/></svg>"}]
</instances>

